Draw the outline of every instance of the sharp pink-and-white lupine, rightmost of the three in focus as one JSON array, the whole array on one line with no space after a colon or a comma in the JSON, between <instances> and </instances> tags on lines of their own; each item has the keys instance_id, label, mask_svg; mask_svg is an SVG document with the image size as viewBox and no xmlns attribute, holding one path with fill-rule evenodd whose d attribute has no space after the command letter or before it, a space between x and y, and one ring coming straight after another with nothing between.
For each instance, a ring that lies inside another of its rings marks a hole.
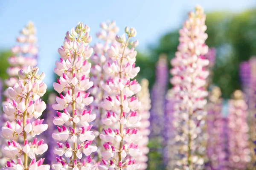
<instances>
[{"instance_id":1,"label":"sharp pink-and-white lupine, rightmost of the three in focus","mask_svg":"<svg viewBox=\"0 0 256 170\"><path fill-rule=\"evenodd\" d=\"M103 85L103 89L108 94L104 100L107 119L105 117L102 119L111 128L104 129L100 134L100 139L105 142L102 164L98 166L100 170L138 169L137 158L142 155L137 144L142 136L137 128L132 127L141 119L141 115L137 113L140 102L133 96L141 87L136 80L131 81L137 76L140 68L135 67L137 51L128 48L129 44L131 46L138 44L138 41L129 43L137 32L134 28L128 27L125 28L125 32L128 39L125 34L116 36L116 41L119 43L111 45L107 51L112 61L103 66L109 79ZM134 88L135 86L137 89Z\"/></svg>"}]
</instances>

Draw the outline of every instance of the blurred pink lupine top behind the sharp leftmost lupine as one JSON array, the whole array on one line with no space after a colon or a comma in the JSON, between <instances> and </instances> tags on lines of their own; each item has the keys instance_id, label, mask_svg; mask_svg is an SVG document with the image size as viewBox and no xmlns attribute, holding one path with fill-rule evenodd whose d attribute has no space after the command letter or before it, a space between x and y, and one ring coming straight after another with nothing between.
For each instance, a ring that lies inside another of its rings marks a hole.
<instances>
[{"instance_id":1,"label":"blurred pink lupine top behind the sharp leftmost lupine","mask_svg":"<svg viewBox=\"0 0 256 170\"><path fill-rule=\"evenodd\" d=\"M9 57L8 62L11 65L7 69L7 74L9 79L5 80L5 84L8 87L12 87L16 82L18 82L18 72L20 69L26 69L27 66L34 67L37 65L37 54L38 47L36 45L37 38L35 37L36 29L34 24L30 21L21 31L20 36L17 37L17 42L20 45L14 46L12 48L12 53L14 56Z\"/></svg>"}]
</instances>

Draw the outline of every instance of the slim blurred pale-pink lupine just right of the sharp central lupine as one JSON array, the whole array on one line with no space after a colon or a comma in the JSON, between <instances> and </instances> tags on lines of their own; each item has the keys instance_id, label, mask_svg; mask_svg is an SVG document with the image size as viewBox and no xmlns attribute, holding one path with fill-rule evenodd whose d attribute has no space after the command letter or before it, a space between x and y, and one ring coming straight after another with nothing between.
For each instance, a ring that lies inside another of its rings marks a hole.
<instances>
[{"instance_id":1,"label":"slim blurred pale-pink lupine just right of the sharp central lupine","mask_svg":"<svg viewBox=\"0 0 256 170\"><path fill-rule=\"evenodd\" d=\"M138 148L142 151L142 156L138 158L138 163L140 164L140 170L145 170L148 167L148 135L150 134L149 126L149 117L150 117L150 108L151 108L151 100L150 94L148 90L148 80L142 79L141 81L141 91L137 93L138 99L141 101L140 108L138 109L138 114L141 116L141 121L139 121L136 127L140 130L139 133L143 136L143 138L138 142Z\"/></svg>"}]
</instances>

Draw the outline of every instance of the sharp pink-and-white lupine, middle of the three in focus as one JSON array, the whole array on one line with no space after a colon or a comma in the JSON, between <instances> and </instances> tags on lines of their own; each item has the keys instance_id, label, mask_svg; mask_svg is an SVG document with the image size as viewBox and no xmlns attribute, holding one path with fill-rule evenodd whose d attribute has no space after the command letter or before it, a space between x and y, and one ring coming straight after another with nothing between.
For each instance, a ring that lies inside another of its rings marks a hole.
<instances>
[{"instance_id":1,"label":"sharp pink-and-white lupine, middle of the three in focus","mask_svg":"<svg viewBox=\"0 0 256 170\"><path fill-rule=\"evenodd\" d=\"M89 32L87 25L78 23L71 32L67 31L64 45L58 49L61 59L55 62L54 72L60 78L53 87L59 96L52 106L57 110L53 123L58 131L52 134L52 138L59 141L54 149L59 158L52 164L54 170L95 169L90 154L97 147L91 145L95 136L90 123L95 120L96 114L87 110L93 97L86 93L93 86L93 82L89 81L91 64L87 61L93 54L93 48L88 45L91 41Z\"/></svg>"}]
</instances>

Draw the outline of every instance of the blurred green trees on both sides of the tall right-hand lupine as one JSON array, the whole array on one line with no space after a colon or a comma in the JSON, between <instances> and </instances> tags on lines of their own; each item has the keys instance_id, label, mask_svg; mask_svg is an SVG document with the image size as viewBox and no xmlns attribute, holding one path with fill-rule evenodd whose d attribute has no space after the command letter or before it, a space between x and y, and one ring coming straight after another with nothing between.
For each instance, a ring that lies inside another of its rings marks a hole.
<instances>
[{"instance_id":1,"label":"blurred green trees on both sides of the tall right-hand lupine","mask_svg":"<svg viewBox=\"0 0 256 170\"><path fill-rule=\"evenodd\" d=\"M256 55L256 9L237 14L211 12L207 14L206 25L206 44L217 50L213 83L221 88L224 98L229 98L233 91L240 89L239 64ZM178 37L178 29L170 31L160 37L157 45L149 47L148 54L138 54L139 79L147 78L152 87L159 55L165 53L169 60L175 57Z\"/></svg>"}]
</instances>

